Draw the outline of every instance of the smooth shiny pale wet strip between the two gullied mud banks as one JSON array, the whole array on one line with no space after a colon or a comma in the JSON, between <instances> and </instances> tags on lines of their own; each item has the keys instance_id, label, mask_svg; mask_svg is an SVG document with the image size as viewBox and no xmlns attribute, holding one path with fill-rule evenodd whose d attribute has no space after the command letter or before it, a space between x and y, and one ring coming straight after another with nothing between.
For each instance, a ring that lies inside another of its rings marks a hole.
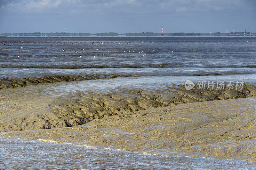
<instances>
[{"instance_id":1,"label":"smooth shiny pale wet strip between the two gullied mud banks","mask_svg":"<svg viewBox=\"0 0 256 170\"><path fill-rule=\"evenodd\" d=\"M62 96L73 95L77 93L108 93L123 91L127 89L163 89L177 87L176 85L185 85L185 81L190 80L195 84L198 81L208 81L217 83L217 81L238 81L256 85L256 74L234 74L218 76L141 76L141 77L121 77L99 80L58 82L29 87L21 87L20 92L24 95L35 93L43 96ZM6 89L9 92L17 93L16 88Z\"/></svg>"}]
</instances>

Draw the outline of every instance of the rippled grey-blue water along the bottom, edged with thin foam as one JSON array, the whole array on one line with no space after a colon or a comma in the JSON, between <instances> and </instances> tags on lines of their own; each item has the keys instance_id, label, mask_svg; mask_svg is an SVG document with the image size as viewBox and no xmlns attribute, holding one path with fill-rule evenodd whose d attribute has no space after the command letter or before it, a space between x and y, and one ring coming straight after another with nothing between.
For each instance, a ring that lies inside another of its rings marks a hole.
<instances>
[{"instance_id":1,"label":"rippled grey-blue water along the bottom, edged with thin foam","mask_svg":"<svg viewBox=\"0 0 256 170\"><path fill-rule=\"evenodd\" d=\"M0 137L0 169L255 169L256 163L177 157Z\"/></svg>"}]
</instances>

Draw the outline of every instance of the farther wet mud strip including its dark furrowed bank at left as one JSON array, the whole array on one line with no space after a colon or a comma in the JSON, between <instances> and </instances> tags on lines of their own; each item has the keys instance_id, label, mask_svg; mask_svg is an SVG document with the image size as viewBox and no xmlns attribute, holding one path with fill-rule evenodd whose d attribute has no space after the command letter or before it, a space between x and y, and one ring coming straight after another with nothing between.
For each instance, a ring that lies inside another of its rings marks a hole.
<instances>
[{"instance_id":1,"label":"farther wet mud strip including its dark furrowed bank at left","mask_svg":"<svg viewBox=\"0 0 256 170\"><path fill-rule=\"evenodd\" d=\"M202 71L202 69L204 71ZM48 68L1 68L0 89L34 86L55 82L98 80L117 77L143 76L215 76L254 75L254 68L92 68L92 69L48 69Z\"/></svg>"}]
</instances>

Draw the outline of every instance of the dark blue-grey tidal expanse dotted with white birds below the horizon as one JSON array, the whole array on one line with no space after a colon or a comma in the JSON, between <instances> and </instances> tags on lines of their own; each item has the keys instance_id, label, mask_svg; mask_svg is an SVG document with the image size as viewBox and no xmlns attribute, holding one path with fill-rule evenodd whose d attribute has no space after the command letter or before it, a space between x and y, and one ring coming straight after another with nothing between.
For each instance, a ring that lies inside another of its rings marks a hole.
<instances>
[{"instance_id":1,"label":"dark blue-grey tidal expanse dotted with white birds below the horizon","mask_svg":"<svg viewBox=\"0 0 256 170\"><path fill-rule=\"evenodd\" d=\"M256 37L0 37L0 67L37 68L28 70L30 76L58 74L59 69L72 69L63 71L67 74L127 72L114 68L140 68L129 69L131 75L255 73L255 44ZM26 71L9 69L15 75Z\"/></svg>"}]
</instances>

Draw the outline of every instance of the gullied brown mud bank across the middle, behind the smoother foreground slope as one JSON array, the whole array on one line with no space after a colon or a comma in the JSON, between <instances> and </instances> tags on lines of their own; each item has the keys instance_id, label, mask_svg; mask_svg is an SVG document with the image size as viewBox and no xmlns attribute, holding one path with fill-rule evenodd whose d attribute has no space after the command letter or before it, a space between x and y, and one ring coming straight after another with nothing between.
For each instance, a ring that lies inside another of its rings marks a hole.
<instances>
[{"instance_id":1,"label":"gullied brown mud bank across the middle, behind the smoother foreground slope","mask_svg":"<svg viewBox=\"0 0 256 170\"><path fill-rule=\"evenodd\" d=\"M63 96L45 95L33 89L24 87L0 91L0 132L71 127L106 116L151 108L256 96L256 88L249 84L243 90L210 88L188 91L184 86L176 86Z\"/></svg>"}]
</instances>

